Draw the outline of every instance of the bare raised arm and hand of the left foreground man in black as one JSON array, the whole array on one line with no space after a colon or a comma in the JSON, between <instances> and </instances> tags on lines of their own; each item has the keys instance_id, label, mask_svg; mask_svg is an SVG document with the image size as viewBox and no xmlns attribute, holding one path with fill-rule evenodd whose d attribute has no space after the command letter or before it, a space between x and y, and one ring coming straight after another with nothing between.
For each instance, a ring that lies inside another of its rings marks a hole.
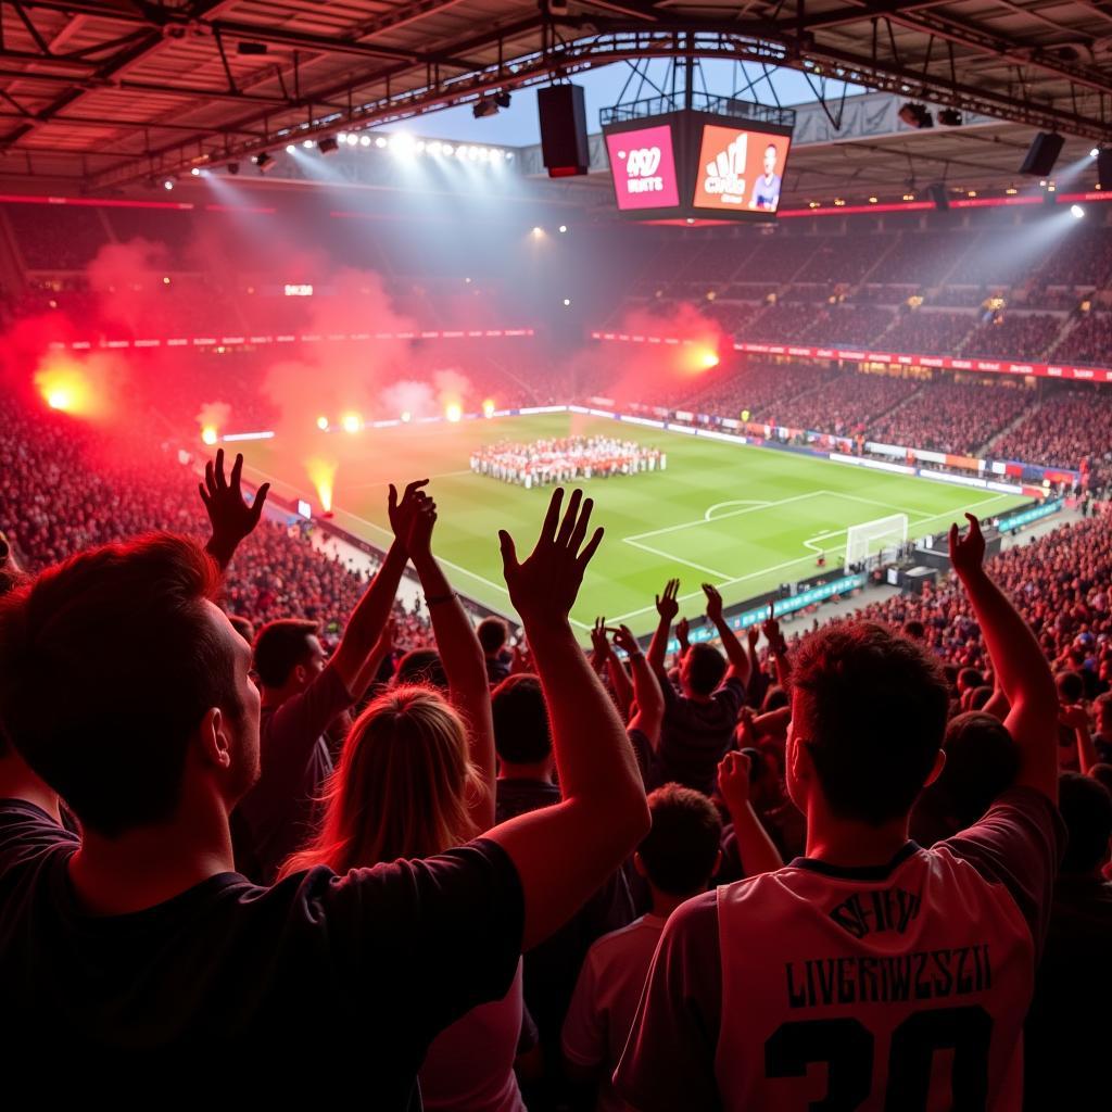
<instances>
[{"instance_id":1,"label":"bare raised arm and hand of the left foreground man in black","mask_svg":"<svg viewBox=\"0 0 1112 1112\"><path fill-rule=\"evenodd\" d=\"M525 892L525 947L564 923L648 833L645 792L614 703L590 668L568 622L590 557L592 502L553 494L533 554L518 563L505 530L509 597L528 634L552 723L563 801L496 826L490 838L509 854ZM580 505L582 503L582 505Z\"/></svg>"}]
</instances>

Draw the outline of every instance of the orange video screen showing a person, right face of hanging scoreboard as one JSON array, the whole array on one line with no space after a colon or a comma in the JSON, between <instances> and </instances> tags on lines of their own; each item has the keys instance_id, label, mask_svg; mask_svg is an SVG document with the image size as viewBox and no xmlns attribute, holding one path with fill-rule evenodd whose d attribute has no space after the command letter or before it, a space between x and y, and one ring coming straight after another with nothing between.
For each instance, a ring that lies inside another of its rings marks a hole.
<instances>
[{"instance_id":1,"label":"orange video screen showing a person, right face of hanging scoreboard","mask_svg":"<svg viewBox=\"0 0 1112 1112\"><path fill-rule=\"evenodd\" d=\"M694 208L775 212L791 137L703 126Z\"/></svg>"}]
</instances>

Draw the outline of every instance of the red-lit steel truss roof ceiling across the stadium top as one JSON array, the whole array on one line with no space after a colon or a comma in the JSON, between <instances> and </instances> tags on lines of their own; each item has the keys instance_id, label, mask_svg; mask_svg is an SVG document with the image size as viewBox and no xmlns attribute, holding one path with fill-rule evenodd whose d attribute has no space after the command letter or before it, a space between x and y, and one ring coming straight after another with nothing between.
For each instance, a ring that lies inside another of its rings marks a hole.
<instances>
[{"instance_id":1,"label":"red-lit steel truss roof ceiling across the stadium top","mask_svg":"<svg viewBox=\"0 0 1112 1112\"><path fill-rule=\"evenodd\" d=\"M801 70L834 131L843 105L824 96L828 79L1027 136L1112 140L1109 0L550 6L0 0L0 176L107 189L248 158L291 132L319 138L614 61L684 56ZM867 160L868 140L850 142ZM873 146L883 160L885 141Z\"/></svg>"}]
</instances>

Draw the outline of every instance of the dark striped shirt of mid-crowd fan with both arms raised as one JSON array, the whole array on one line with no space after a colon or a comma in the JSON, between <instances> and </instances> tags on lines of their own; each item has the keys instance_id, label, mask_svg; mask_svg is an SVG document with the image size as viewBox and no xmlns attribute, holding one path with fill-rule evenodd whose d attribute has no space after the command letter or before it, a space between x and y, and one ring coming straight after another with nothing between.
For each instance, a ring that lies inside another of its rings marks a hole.
<instances>
[{"instance_id":1,"label":"dark striped shirt of mid-crowd fan with both arms raised","mask_svg":"<svg viewBox=\"0 0 1112 1112\"><path fill-rule=\"evenodd\" d=\"M733 743L745 688L732 676L704 703L681 695L671 683L662 683L661 687L664 689L664 726L657 759L661 783L674 781L709 795L718 762Z\"/></svg>"}]
</instances>

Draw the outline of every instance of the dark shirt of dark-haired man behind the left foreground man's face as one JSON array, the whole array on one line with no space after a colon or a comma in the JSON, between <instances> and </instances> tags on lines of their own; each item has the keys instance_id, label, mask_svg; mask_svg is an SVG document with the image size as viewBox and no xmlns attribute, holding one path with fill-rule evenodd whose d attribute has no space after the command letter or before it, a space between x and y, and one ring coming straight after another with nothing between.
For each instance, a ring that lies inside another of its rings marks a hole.
<instances>
[{"instance_id":1,"label":"dark shirt of dark-haired man behind the left foreground man's face","mask_svg":"<svg viewBox=\"0 0 1112 1112\"><path fill-rule=\"evenodd\" d=\"M304 692L259 721L258 783L240 800L231 831L236 867L271 884L282 862L310 836L332 758L325 731L351 705L339 673L326 667Z\"/></svg>"}]
</instances>

